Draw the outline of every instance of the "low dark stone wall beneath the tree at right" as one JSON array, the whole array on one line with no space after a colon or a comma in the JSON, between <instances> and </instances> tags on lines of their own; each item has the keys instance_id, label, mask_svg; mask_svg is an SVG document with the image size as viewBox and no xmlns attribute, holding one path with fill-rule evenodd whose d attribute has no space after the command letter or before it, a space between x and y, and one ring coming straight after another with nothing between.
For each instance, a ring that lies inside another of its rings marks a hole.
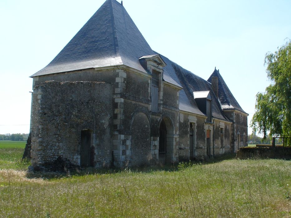
<instances>
[{"instance_id":1,"label":"low dark stone wall beneath the tree at right","mask_svg":"<svg viewBox=\"0 0 291 218\"><path fill-rule=\"evenodd\" d=\"M291 160L291 147L241 147L236 152L236 158L274 158Z\"/></svg>"}]
</instances>

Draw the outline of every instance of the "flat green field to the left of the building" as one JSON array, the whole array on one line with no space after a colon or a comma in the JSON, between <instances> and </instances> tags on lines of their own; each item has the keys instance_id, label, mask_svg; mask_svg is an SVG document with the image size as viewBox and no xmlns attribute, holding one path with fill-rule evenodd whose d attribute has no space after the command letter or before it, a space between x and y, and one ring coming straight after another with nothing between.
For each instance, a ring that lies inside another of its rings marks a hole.
<instances>
[{"instance_id":1,"label":"flat green field to the left of the building","mask_svg":"<svg viewBox=\"0 0 291 218\"><path fill-rule=\"evenodd\" d=\"M26 170L28 163L22 159L26 142L0 140L0 169Z\"/></svg>"}]
</instances>

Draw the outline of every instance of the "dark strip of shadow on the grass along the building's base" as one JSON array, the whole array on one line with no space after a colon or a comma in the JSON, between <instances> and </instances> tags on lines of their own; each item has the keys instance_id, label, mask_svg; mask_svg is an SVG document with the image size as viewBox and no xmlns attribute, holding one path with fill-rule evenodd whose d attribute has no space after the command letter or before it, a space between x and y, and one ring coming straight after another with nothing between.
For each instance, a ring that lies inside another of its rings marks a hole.
<instances>
[{"instance_id":1,"label":"dark strip of shadow on the grass along the building's base","mask_svg":"<svg viewBox=\"0 0 291 218\"><path fill-rule=\"evenodd\" d=\"M235 154L224 154L219 157L210 158L204 161L187 161L184 160L183 163L195 165L195 164L215 164L224 160L235 159ZM182 163L182 161L180 162ZM153 173L153 172L174 172L179 170L180 163L173 164L158 164L154 166L142 166L142 167L130 167L130 168L105 168L105 169L96 169L93 167L88 168L75 168L70 170L64 170L64 172L49 172L49 171L40 171L40 172L32 172L27 171L27 178L43 178L43 179L61 179L61 178L69 178L72 175L77 176L86 176L93 174L114 174L114 173L123 173L125 171L131 173ZM190 165L189 164L189 165Z\"/></svg>"}]
</instances>

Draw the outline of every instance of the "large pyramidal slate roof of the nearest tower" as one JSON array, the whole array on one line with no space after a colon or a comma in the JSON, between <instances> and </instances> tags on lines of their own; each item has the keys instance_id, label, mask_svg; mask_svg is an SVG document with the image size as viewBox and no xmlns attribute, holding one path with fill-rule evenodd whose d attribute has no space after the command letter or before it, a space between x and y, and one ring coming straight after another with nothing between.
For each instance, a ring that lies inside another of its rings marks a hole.
<instances>
[{"instance_id":1,"label":"large pyramidal slate roof of the nearest tower","mask_svg":"<svg viewBox=\"0 0 291 218\"><path fill-rule=\"evenodd\" d=\"M51 63L31 77L116 65L146 73L138 58L155 54L125 8L106 0Z\"/></svg>"}]
</instances>

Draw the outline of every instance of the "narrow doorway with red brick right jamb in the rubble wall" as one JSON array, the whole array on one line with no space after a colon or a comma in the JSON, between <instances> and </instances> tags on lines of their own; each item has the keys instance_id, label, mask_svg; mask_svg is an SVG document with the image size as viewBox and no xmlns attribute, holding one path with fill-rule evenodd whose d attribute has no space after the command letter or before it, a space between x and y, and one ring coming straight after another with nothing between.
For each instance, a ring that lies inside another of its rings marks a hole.
<instances>
[{"instance_id":1,"label":"narrow doorway with red brick right jamb in the rubble wall","mask_svg":"<svg viewBox=\"0 0 291 218\"><path fill-rule=\"evenodd\" d=\"M92 131L81 131L80 166L89 167L94 165L94 147L92 146Z\"/></svg>"}]
</instances>

